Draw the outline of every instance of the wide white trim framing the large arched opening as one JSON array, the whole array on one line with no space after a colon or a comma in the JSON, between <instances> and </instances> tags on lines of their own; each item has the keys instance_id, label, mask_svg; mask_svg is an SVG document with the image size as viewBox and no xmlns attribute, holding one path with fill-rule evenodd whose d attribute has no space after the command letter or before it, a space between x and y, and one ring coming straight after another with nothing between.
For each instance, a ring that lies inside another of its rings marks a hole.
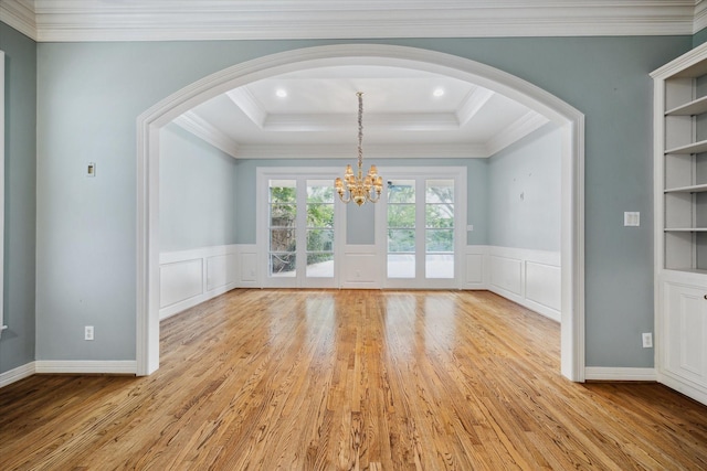
<instances>
[{"instance_id":1,"label":"wide white trim framing the large arched opening","mask_svg":"<svg viewBox=\"0 0 707 471\"><path fill-rule=\"evenodd\" d=\"M584 116L550 93L464 57L414 47L342 44L286 51L209 75L137 118L137 352L139 375L159 366L159 129L194 106L247 83L305 68L381 65L471 82L515 99L563 129L562 374L584 381Z\"/></svg>"}]
</instances>

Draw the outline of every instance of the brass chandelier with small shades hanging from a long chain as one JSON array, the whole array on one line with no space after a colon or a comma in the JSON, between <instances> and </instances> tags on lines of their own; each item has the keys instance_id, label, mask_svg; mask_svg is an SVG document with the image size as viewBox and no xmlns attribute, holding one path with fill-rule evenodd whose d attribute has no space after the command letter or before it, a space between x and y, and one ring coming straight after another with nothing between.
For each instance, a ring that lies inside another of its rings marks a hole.
<instances>
[{"instance_id":1,"label":"brass chandelier with small shades hanging from a long chain","mask_svg":"<svg viewBox=\"0 0 707 471\"><path fill-rule=\"evenodd\" d=\"M383 190L383 178L378 174L376 165L371 165L366 178L363 178L363 93L358 92L358 174L354 174L351 165L346 165L344 180L337 176L334 188L339 193L339 199L344 203L354 201L359 206L370 201L376 203L380 200L380 192Z\"/></svg>"}]
</instances>

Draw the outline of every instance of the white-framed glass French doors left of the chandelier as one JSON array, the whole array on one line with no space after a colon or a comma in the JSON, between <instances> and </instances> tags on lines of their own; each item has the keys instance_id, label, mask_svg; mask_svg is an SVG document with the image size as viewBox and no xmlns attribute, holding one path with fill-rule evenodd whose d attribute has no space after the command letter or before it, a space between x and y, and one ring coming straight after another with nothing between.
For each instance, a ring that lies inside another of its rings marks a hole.
<instances>
[{"instance_id":1,"label":"white-framed glass French doors left of the chandelier","mask_svg":"<svg viewBox=\"0 0 707 471\"><path fill-rule=\"evenodd\" d=\"M300 171L302 172L302 171ZM260 253L265 255L265 287L337 286L338 214L334 176L266 174L258 176Z\"/></svg>"}]
</instances>

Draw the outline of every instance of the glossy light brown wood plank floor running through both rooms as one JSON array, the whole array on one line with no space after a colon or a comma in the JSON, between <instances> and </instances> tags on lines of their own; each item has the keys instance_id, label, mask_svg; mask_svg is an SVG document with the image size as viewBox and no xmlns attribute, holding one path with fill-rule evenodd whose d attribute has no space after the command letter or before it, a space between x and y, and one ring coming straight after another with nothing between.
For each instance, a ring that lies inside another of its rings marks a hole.
<instances>
[{"instance_id":1,"label":"glossy light brown wood plank floor running through both rooms","mask_svg":"<svg viewBox=\"0 0 707 471\"><path fill-rule=\"evenodd\" d=\"M567 381L559 325L489 292L234 290L161 355L0 389L0 469L707 469L707 407Z\"/></svg>"}]
</instances>

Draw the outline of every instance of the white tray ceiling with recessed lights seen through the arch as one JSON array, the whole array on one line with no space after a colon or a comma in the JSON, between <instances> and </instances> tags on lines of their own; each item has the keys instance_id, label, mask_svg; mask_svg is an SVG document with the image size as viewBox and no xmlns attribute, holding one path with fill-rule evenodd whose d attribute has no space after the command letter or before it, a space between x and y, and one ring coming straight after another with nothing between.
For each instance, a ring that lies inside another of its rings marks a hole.
<instances>
[{"instance_id":1,"label":"white tray ceiling with recessed lights seen through the arch","mask_svg":"<svg viewBox=\"0 0 707 471\"><path fill-rule=\"evenodd\" d=\"M232 89L177 124L241 159L350 158L358 143L357 92L363 92L369 157L489 157L548 122L503 95L449 76L336 66Z\"/></svg>"}]
</instances>

